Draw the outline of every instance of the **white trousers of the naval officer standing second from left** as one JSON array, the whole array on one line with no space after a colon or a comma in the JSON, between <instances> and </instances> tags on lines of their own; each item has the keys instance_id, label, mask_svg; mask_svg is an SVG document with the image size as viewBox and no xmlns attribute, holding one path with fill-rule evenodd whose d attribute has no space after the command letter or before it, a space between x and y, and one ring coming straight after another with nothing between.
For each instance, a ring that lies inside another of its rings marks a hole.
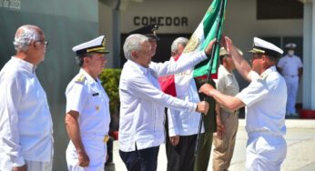
<instances>
[{"instance_id":1,"label":"white trousers of the naval officer standing second from left","mask_svg":"<svg viewBox=\"0 0 315 171\"><path fill-rule=\"evenodd\" d=\"M86 154L90 159L89 166L78 166L78 156L76 147L70 141L66 148L66 164L69 171L103 171L107 157L107 144L103 142L104 136L97 137L82 137L83 145L86 149Z\"/></svg>"}]
</instances>

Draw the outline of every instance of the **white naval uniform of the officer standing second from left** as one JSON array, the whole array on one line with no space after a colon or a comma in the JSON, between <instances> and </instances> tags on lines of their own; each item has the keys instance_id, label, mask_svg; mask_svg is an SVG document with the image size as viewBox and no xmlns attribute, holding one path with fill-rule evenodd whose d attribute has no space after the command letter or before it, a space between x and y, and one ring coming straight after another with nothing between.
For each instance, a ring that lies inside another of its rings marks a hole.
<instances>
[{"instance_id":1,"label":"white naval uniform of the officer standing second from left","mask_svg":"<svg viewBox=\"0 0 315 171\"><path fill-rule=\"evenodd\" d=\"M77 166L76 147L70 141L66 148L66 163L69 170L104 170L107 144L104 137L109 129L109 98L100 80L93 79L80 69L78 75L66 87L66 113L79 113L78 124L86 154L90 159L88 167Z\"/></svg>"}]
</instances>

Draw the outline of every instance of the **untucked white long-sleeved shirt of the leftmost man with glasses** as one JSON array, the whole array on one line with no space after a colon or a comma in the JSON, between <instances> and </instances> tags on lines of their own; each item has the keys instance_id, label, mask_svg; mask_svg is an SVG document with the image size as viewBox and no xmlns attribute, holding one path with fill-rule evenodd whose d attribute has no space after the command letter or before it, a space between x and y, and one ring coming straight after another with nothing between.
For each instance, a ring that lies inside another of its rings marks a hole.
<instances>
[{"instance_id":1,"label":"untucked white long-sleeved shirt of the leftmost man with glasses","mask_svg":"<svg viewBox=\"0 0 315 171\"><path fill-rule=\"evenodd\" d=\"M53 122L35 66L12 57L0 72L0 170L50 162Z\"/></svg>"}]
</instances>

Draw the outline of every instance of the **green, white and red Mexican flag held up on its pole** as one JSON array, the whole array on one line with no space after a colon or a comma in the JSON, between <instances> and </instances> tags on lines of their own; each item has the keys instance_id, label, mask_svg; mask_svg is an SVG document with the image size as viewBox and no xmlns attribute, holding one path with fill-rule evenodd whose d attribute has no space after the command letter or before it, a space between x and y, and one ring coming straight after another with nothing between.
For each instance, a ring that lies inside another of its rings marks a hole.
<instances>
[{"instance_id":1,"label":"green, white and red Mexican flag held up on its pole","mask_svg":"<svg viewBox=\"0 0 315 171\"><path fill-rule=\"evenodd\" d=\"M188 41L188 45L186 45L183 51L183 54L178 57L178 61L185 60L193 53L205 50L208 46L208 43L214 38L217 38L217 40L219 41L224 21L226 4L227 0L213 0L211 5L208 7L206 15L204 15L197 29L195 30L193 35L191 35ZM186 100L189 100L191 102L198 102L198 91L193 77L207 76L210 64L212 64L211 75L217 74L219 45L214 45L214 47L215 48L212 52L213 57L211 58L211 56L208 56L208 60L199 63L195 66L195 68L191 68L184 73L159 79L161 89L169 95L178 97L195 94L197 96L191 96L189 97L189 99ZM189 92L190 90L194 92ZM170 91L172 93L169 93Z\"/></svg>"}]
</instances>

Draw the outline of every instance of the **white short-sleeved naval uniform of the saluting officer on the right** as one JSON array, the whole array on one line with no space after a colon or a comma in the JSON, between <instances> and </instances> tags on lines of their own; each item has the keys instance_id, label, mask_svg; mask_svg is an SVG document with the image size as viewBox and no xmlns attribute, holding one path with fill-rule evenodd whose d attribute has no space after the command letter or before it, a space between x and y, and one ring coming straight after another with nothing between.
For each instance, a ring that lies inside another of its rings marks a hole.
<instances>
[{"instance_id":1,"label":"white short-sleeved naval uniform of the saluting officer on the right","mask_svg":"<svg viewBox=\"0 0 315 171\"><path fill-rule=\"evenodd\" d=\"M280 170L287 155L285 106L287 87L275 66L260 76L251 71L251 82L238 97L246 105L246 170Z\"/></svg>"}]
</instances>

